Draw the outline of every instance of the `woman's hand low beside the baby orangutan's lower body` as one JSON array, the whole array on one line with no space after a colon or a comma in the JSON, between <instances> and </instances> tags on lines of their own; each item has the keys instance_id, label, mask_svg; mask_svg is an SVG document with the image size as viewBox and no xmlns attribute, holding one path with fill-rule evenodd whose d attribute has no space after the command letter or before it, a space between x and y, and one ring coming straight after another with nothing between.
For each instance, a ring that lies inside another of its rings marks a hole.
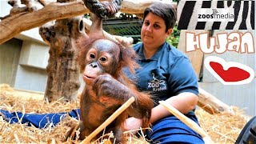
<instances>
[{"instance_id":1,"label":"woman's hand low beside the baby orangutan's lower body","mask_svg":"<svg viewBox=\"0 0 256 144\"><path fill-rule=\"evenodd\" d=\"M137 131L142 127L142 120L134 117L126 119L125 129L130 131L132 134L136 134Z\"/></svg>"}]
</instances>

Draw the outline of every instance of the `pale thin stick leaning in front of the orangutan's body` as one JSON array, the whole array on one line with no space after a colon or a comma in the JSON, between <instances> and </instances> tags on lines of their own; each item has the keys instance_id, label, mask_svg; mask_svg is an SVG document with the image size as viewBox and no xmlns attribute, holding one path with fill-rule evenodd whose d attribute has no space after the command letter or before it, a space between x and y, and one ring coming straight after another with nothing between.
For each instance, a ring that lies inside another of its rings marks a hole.
<instances>
[{"instance_id":1,"label":"pale thin stick leaning in front of the orangutan's body","mask_svg":"<svg viewBox=\"0 0 256 144\"><path fill-rule=\"evenodd\" d=\"M135 101L134 97L131 97L130 99L128 99L128 101L126 101L121 107L118 108L118 110L116 110L114 112L114 114L110 115L109 118L106 119L105 122L102 123L101 126L98 126L98 128L96 130L94 130L88 137L86 137L86 139L84 139L81 143L83 144L87 144L90 143L90 140L92 138L94 138L99 132L101 132L106 126L110 125L111 122L114 121L115 118L118 117L118 115L122 114L122 112L124 110L126 110L133 102Z\"/></svg>"}]
</instances>

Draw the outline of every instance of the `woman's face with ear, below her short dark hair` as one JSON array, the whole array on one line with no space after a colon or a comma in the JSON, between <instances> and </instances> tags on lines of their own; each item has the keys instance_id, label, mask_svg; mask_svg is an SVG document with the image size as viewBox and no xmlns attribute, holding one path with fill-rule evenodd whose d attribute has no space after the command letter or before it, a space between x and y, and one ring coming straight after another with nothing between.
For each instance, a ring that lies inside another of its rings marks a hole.
<instances>
[{"instance_id":1,"label":"woman's face with ear, below her short dark hair","mask_svg":"<svg viewBox=\"0 0 256 144\"><path fill-rule=\"evenodd\" d=\"M172 29L166 32L166 24L161 17L149 13L146 15L142 25L142 42L146 47L158 48L165 42L171 32Z\"/></svg>"}]
</instances>

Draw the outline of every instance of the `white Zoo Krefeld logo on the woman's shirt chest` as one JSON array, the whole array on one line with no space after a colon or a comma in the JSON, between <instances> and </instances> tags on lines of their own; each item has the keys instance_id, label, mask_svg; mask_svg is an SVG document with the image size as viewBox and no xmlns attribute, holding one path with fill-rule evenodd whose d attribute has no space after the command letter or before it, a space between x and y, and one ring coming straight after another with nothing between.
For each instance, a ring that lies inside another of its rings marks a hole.
<instances>
[{"instance_id":1,"label":"white Zoo Krefeld logo on the woman's shirt chest","mask_svg":"<svg viewBox=\"0 0 256 144\"><path fill-rule=\"evenodd\" d=\"M152 88L153 91L162 91L162 90L167 90L166 88L166 82L164 80L158 80L157 78L154 77L153 75L153 80L148 82L148 88Z\"/></svg>"}]
</instances>

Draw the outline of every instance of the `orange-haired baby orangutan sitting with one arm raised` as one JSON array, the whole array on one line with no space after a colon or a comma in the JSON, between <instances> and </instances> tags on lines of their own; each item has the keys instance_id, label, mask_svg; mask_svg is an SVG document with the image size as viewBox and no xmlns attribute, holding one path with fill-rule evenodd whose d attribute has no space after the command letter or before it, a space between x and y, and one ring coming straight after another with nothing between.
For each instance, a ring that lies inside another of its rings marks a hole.
<instances>
[{"instance_id":1,"label":"orange-haired baby orangutan sitting with one arm raised","mask_svg":"<svg viewBox=\"0 0 256 144\"><path fill-rule=\"evenodd\" d=\"M102 18L95 15L92 18L89 38L82 38L78 42L81 50L79 62L84 70L83 79L86 82L80 98L80 139L86 138L124 102L134 97L135 102L107 126L105 132L113 131L115 142L125 143L123 132L126 118L142 118L142 126L148 127L154 104L148 94L136 90L133 82L122 74L123 67L127 67L131 72L138 67L134 61L134 50L104 38ZM70 131L71 134L73 130ZM98 137L101 135L98 134Z\"/></svg>"}]
</instances>

